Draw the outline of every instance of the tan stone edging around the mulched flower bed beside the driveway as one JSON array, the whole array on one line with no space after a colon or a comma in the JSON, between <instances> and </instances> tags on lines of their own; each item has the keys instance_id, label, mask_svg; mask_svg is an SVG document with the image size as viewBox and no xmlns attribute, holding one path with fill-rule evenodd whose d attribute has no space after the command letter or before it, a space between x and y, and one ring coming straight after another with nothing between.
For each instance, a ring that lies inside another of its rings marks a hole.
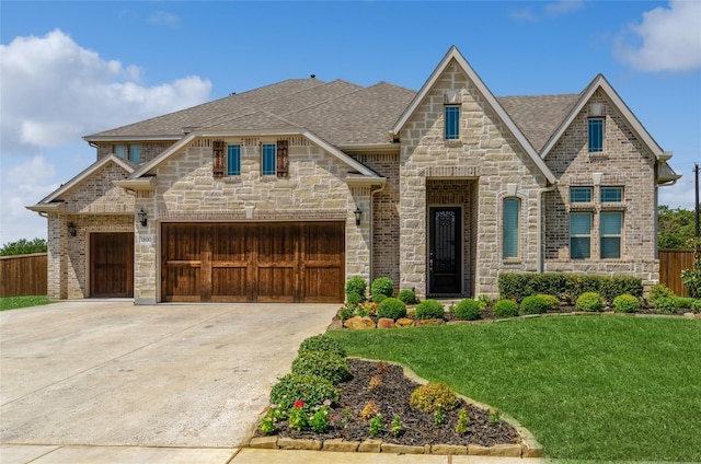
<instances>
[{"instance_id":1,"label":"tan stone edging around the mulched flower bed beside the driveway","mask_svg":"<svg viewBox=\"0 0 701 464\"><path fill-rule=\"evenodd\" d=\"M361 359L364 361L377 362L376 359ZM386 361L390 364L402 368L404 375L414 382L425 385L427 380L420 378L412 371L397 362ZM458 395L467 404L490 410L491 406L484 403L475 402L463 395ZM365 441L346 441L343 439L314 440L314 439L292 439L277 436L254 437L260 419L263 418L263 411L251 429L249 439L244 443L249 448L268 449L268 450L311 450L311 451L330 451L330 452L357 452L357 453L392 453L392 454L440 454L440 455L475 455L475 456L501 456L501 457L542 457L543 450L533 434L521 426L516 419L502 411L502 419L516 429L520 437L520 443L503 443L494 446L481 446L479 444L425 444L423 446L410 446L397 443L387 443L379 439L367 439Z\"/></svg>"}]
</instances>

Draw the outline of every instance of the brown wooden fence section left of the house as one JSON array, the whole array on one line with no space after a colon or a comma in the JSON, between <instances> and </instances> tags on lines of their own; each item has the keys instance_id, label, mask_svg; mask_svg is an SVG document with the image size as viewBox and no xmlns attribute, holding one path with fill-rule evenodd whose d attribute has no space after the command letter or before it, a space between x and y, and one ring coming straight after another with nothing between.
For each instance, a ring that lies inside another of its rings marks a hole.
<instances>
[{"instance_id":1,"label":"brown wooden fence section left of the house","mask_svg":"<svg viewBox=\"0 0 701 464\"><path fill-rule=\"evenodd\" d=\"M46 294L46 253L0 256L0 297Z\"/></svg>"}]
</instances>

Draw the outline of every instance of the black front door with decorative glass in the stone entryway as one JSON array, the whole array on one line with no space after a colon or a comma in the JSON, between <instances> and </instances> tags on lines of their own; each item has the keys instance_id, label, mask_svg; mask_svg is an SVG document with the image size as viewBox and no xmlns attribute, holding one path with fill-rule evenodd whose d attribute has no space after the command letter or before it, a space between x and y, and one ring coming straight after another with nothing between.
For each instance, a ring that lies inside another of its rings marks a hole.
<instances>
[{"instance_id":1,"label":"black front door with decorative glass in the stone entryway","mask_svg":"<svg viewBox=\"0 0 701 464\"><path fill-rule=\"evenodd\" d=\"M429 208L428 293L462 293L462 214L457 207Z\"/></svg>"}]
</instances>

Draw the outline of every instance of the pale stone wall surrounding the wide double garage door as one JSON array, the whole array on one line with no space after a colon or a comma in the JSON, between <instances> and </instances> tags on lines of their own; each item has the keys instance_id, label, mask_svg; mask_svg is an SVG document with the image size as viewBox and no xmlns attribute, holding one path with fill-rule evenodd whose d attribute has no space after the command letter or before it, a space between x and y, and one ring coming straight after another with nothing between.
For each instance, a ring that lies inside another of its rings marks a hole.
<instances>
[{"instance_id":1,"label":"pale stone wall surrounding the wide double garage door","mask_svg":"<svg viewBox=\"0 0 701 464\"><path fill-rule=\"evenodd\" d=\"M136 209L149 213L135 237L135 301L158 300L157 234L160 221L340 220L346 229L346 276L369 279L370 224L355 224L356 205L370 210L370 188L349 187L350 170L303 137L290 137L289 177L261 175L261 143L277 138L229 138L241 144L241 175L211 175L211 139L194 140L154 170L156 190L139 194Z\"/></svg>"}]
</instances>

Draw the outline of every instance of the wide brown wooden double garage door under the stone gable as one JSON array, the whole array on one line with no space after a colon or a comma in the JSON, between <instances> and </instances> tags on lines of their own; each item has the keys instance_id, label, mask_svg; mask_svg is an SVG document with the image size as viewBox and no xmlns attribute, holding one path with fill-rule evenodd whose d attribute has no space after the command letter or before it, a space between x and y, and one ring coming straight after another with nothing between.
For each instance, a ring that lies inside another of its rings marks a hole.
<instances>
[{"instance_id":1,"label":"wide brown wooden double garage door under the stone gable","mask_svg":"<svg viewBox=\"0 0 701 464\"><path fill-rule=\"evenodd\" d=\"M161 233L164 301L343 301L343 222L164 223Z\"/></svg>"}]
</instances>

